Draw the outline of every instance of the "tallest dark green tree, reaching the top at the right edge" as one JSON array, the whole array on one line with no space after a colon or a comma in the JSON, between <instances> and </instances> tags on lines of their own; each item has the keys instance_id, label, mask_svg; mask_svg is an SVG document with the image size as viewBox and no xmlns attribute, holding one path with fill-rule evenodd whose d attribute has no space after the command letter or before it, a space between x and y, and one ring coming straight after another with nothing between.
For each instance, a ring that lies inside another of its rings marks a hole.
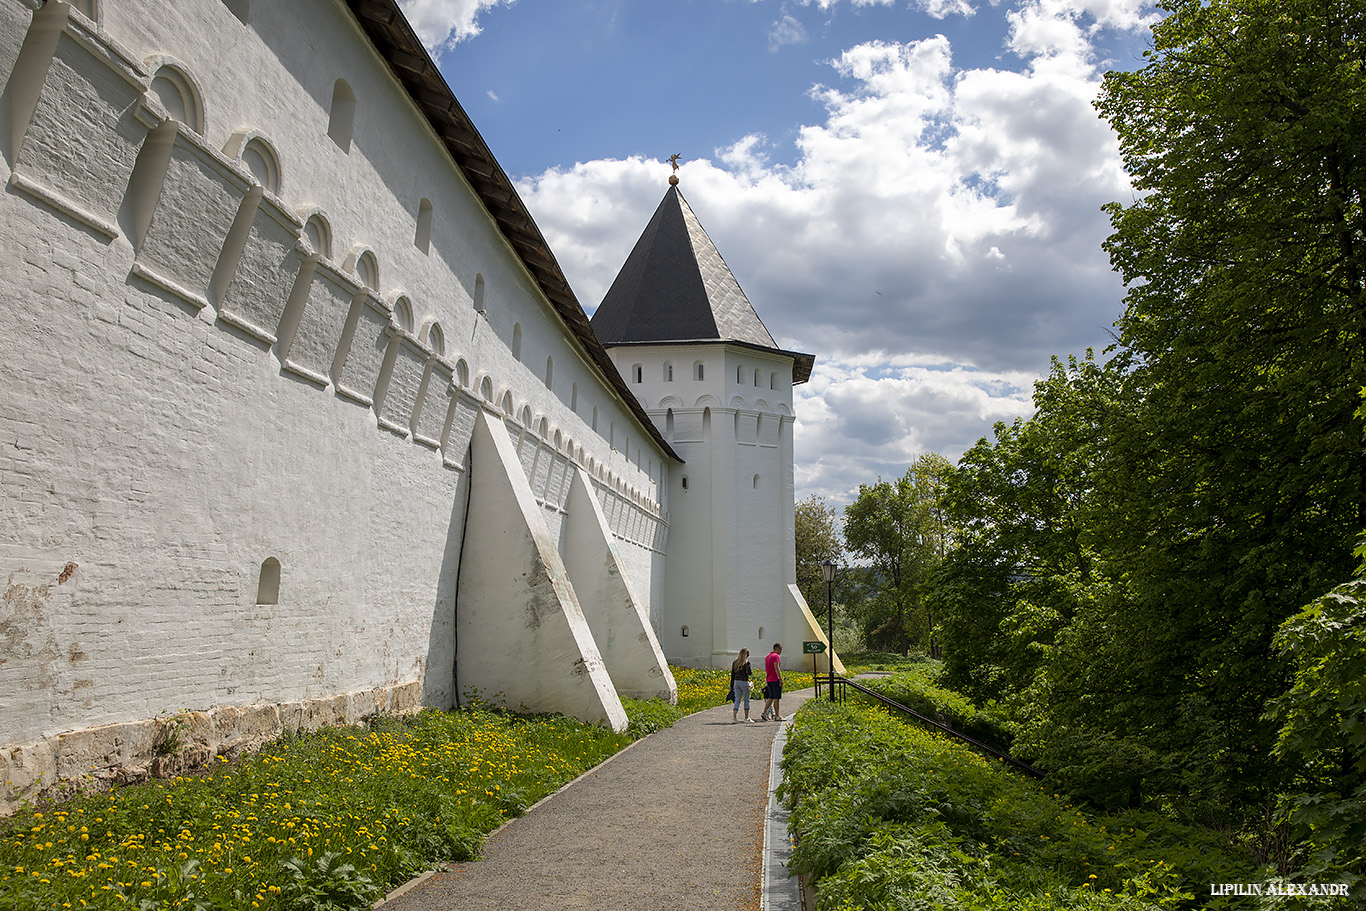
<instances>
[{"instance_id":1,"label":"tallest dark green tree, reaching the top at the right edge","mask_svg":"<svg viewBox=\"0 0 1366 911\"><path fill-rule=\"evenodd\" d=\"M1175 0L1147 63L1105 79L1138 199L1105 243L1128 291L1113 369L1139 407L1108 444L1126 724L1190 718L1259 791L1272 649L1348 578L1366 526L1366 5ZM1113 699L1111 702L1115 702Z\"/></svg>"}]
</instances>

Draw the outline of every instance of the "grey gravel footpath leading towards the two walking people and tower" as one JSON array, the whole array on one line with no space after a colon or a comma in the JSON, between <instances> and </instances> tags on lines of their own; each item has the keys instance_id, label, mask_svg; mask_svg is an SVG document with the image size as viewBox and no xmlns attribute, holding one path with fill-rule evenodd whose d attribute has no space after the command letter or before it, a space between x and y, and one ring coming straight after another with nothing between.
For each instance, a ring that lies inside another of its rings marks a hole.
<instances>
[{"instance_id":1,"label":"grey gravel footpath leading towards the two walking people and tower","mask_svg":"<svg viewBox=\"0 0 1366 911\"><path fill-rule=\"evenodd\" d=\"M452 865L382 910L758 911L777 731L732 725L729 706L691 714L503 826L482 860Z\"/></svg>"}]
</instances>

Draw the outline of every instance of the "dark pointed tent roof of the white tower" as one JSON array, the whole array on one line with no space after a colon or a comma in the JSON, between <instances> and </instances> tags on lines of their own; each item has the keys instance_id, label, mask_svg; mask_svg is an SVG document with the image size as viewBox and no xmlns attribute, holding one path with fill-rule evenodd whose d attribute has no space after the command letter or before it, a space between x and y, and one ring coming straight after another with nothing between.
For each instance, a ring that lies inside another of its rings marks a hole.
<instances>
[{"instance_id":1,"label":"dark pointed tent roof of the white tower","mask_svg":"<svg viewBox=\"0 0 1366 911\"><path fill-rule=\"evenodd\" d=\"M777 350L676 186L593 314L593 332L605 346L720 340Z\"/></svg>"}]
</instances>

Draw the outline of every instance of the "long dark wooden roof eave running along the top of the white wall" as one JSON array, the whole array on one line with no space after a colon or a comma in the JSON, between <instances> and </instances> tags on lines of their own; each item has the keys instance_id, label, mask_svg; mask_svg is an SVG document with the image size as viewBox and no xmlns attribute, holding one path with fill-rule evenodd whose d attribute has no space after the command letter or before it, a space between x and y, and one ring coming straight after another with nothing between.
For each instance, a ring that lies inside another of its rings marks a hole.
<instances>
[{"instance_id":1,"label":"long dark wooden roof eave running along the top of the white wall","mask_svg":"<svg viewBox=\"0 0 1366 911\"><path fill-rule=\"evenodd\" d=\"M396 0L346 0L347 8L355 16L361 30L374 45L376 52L389 64L389 70L413 98L422 115L441 138L455 167L478 194L484 208L497 224L499 231L516 251L527 272L541 287L550 306L583 346L589 359L607 377L608 384L626 403L631 414L641 422L654 443L673 460L683 462L664 440L654 422L645 412L639 400L631 395L626 380L617 373L607 351L593 335L587 314L579 305L570 283L566 280L550 244L545 242L541 229L531 220L531 213L518 195L512 180L474 122L456 101L455 93L447 85L445 76L437 70L432 56L413 26L403 16Z\"/></svg>"}]
</instances>

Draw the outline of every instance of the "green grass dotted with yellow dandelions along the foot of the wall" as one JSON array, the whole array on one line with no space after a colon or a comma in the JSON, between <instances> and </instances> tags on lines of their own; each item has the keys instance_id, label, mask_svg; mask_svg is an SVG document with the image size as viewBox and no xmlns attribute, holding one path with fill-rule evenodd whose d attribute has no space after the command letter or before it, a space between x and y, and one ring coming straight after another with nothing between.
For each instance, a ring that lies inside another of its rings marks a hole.
<instances>
[{"instance_id":1,"label":"green grass dotted with yellow dandelions along the foot of the wall","mask_svg":"<svg viewBox=\"0 0 1366 911\"><path fill-rule=\"evenodd\" d=\"M27 807L0 828L0 907L369 908L680 713L627 735L561 716L426 710L285 736L206 774Z\"/></svg>"}]
</instances>

